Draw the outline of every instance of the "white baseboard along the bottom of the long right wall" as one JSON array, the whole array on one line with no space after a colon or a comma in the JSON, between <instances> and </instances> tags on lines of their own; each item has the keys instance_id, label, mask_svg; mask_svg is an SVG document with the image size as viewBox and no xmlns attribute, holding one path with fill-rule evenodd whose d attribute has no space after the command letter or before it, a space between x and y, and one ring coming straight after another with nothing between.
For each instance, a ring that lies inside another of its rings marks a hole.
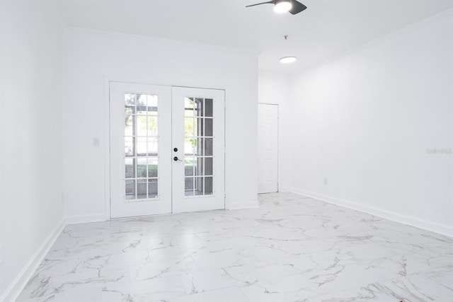
<instances>
[{"instance_id":1,"label":"white baseboard along the bottom of the long right wall","mask_svg":"<svg viewBox=\"0 0 453 302\"><path fill-rule=\"evenodd\" d=\"M289 188L289 192L304 195L306 197L311 197L314 199L319 199L319 200L322 200L323 202L336 204L338 206L346 207L348 209L362 211L367 214L372 214L374 216L382 217L384 219L389 219L391 221L408 224L409 226L415 226L417 228L423 228L424 230L428 230L428 231L432 231L435 233L440 233L445 236L453 237L453 228L452 227L434 223L432 221L425 221L423 219L418 219L418 218L411 217L411 216L401 215L401 214L394 213L391 211L386 211L384 209L367 207L367 206L363 206L361 204L356 204L355 202L348 202L343 199L328 197L328 196L325 196L322 194L317 194L314 192L309 192L309 191L297 189L294 187Z\"/></svg>"}]
</instances>

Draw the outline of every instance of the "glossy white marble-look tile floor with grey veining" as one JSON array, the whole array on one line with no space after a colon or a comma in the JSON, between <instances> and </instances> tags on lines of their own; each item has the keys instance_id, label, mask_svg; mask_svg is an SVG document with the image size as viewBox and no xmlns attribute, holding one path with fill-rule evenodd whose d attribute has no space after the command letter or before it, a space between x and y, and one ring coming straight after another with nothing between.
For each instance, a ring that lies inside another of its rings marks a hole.
<instances>
[{"instance_id":1,"label":"glossy white marble-look tile floor with grey veining","mask_svg":"<svg viewBox=\"0 0 453 302\"><path fill-rule=\"evenodd\" d=\"M453 301L453 238L291 193L69 225L18 301Z\"/></svg>"}]
</instances>

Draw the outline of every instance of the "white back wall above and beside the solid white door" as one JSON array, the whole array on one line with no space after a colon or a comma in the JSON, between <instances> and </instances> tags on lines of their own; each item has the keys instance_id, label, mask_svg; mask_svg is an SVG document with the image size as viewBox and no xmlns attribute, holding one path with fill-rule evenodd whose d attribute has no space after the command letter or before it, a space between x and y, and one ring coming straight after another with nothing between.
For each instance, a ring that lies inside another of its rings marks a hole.
<instances>
[{"instance_id":1,"label":"white back wall above and beside the solid white door","mask_svg":"<svg viewBox=\"0 0 453 302\"><path fill-rule=\"evenodd\" d=\"M285 192L292 184L292 140L290 76L273 71L258 74L258 103L278 105L278 190Z\"/></svg>"}]
</instances>

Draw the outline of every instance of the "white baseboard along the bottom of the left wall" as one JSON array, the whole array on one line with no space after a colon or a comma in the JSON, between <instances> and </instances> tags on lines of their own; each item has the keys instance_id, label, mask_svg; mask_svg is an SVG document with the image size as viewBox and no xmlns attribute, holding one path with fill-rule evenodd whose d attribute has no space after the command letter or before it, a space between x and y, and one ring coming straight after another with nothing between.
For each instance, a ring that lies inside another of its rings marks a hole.
<instances>
[{"instance_id":1,"label":"white baseboard along the bottom of the left wall","mask_svg":"<svg viewBox=\"0 0 453 302\"><path fill-rule=\"evenodd\" d=\"M21 272L13 280L13 282L8 286L4 294L0 296L0 301L12 302L16 301L18 296L23 291L25 285L33 277L33 273L38 269L38 266L44 260L45 255L49 252L52 245L54 245L60 233L62 233L64 226L66 226L66 221L64 219L60 221L58 226L50 233L49 236L44 240L44 243L38 248L38 251L30 257L27 264L23 267Z\"/></svg>"}]
</instances>

